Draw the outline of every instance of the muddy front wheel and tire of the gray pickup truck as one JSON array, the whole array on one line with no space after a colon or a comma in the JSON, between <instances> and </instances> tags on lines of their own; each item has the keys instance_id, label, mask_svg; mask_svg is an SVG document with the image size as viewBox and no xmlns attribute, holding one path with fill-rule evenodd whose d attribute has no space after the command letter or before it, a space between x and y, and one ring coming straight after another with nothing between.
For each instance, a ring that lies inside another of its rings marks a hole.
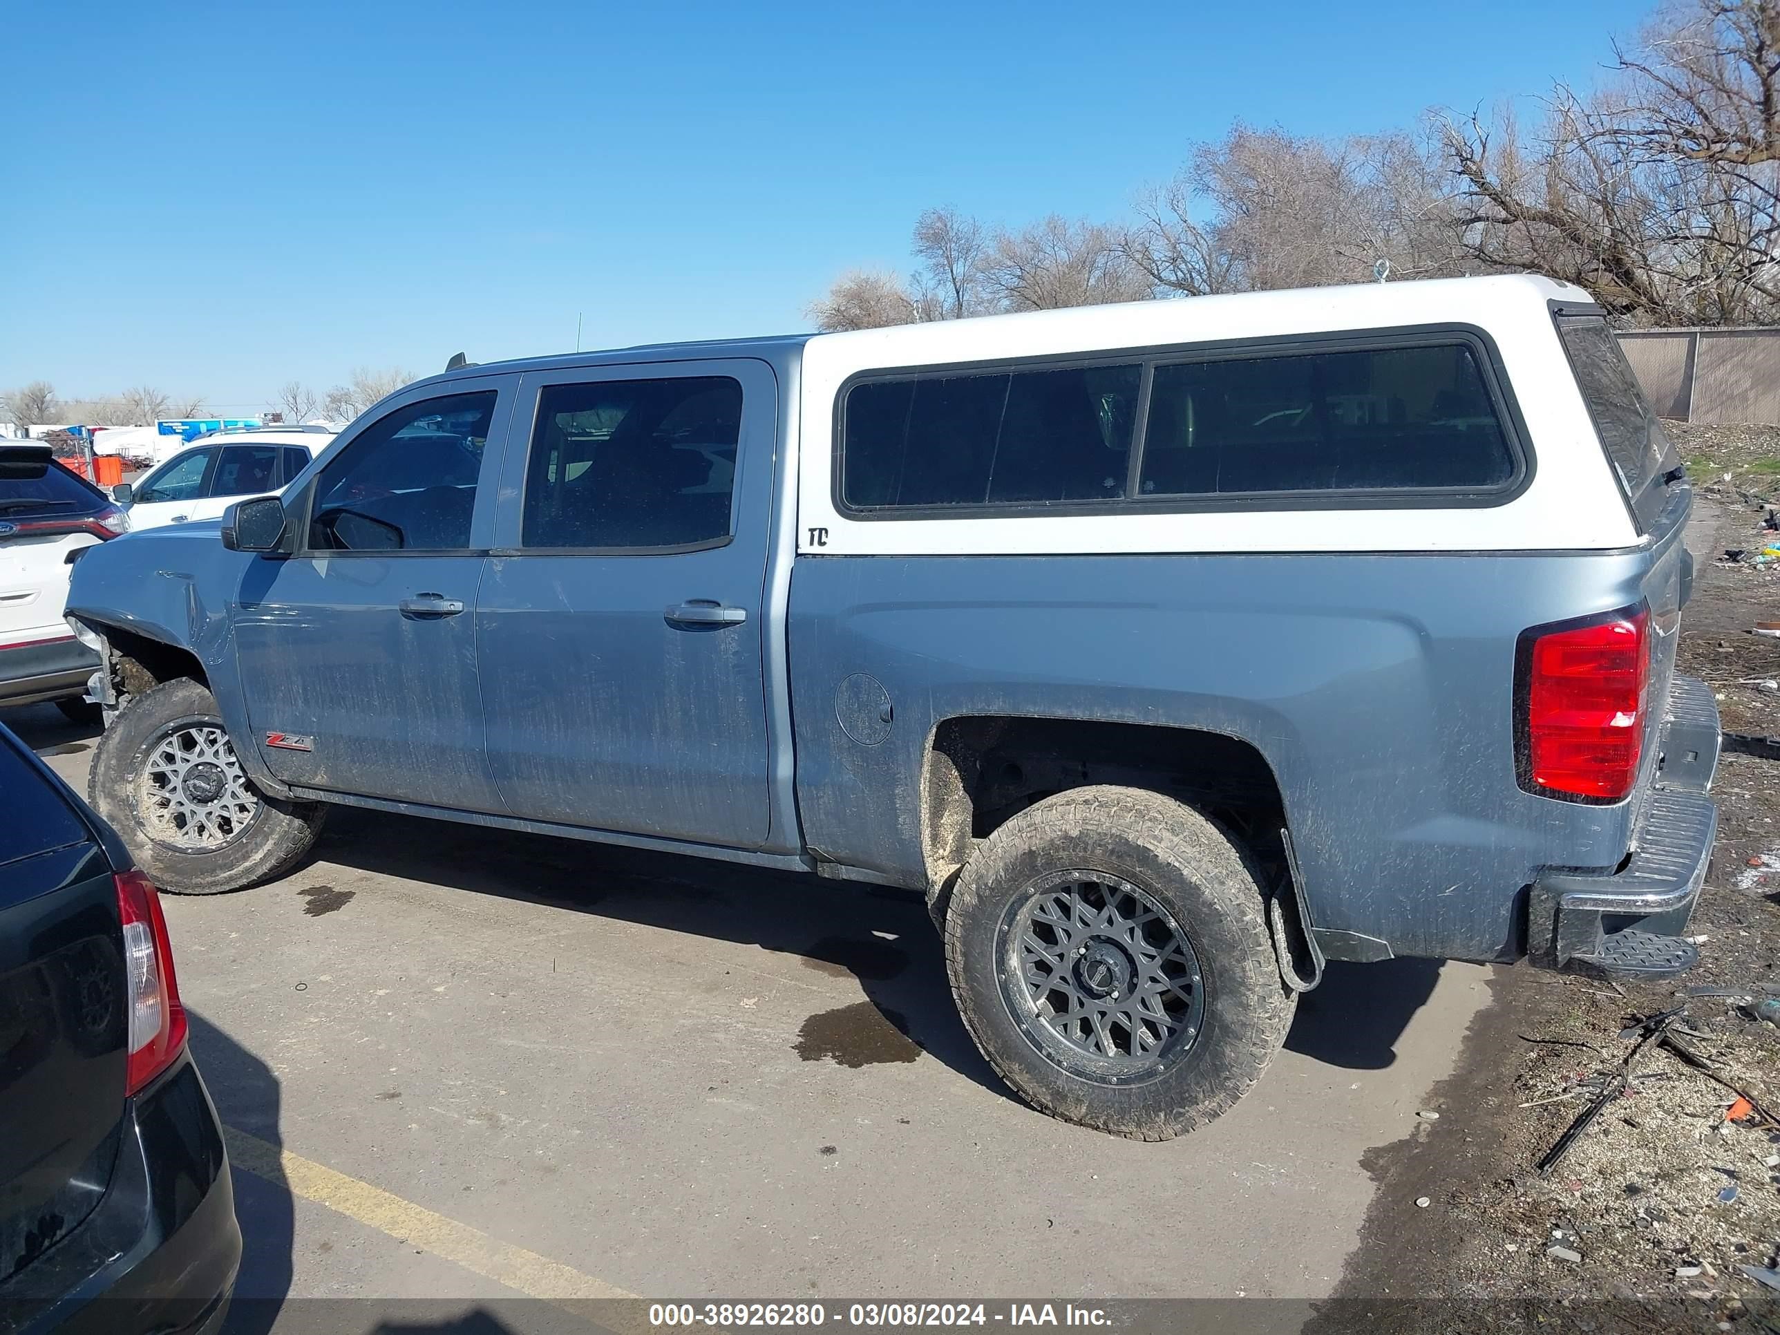
<instances>
[{"instance_id":1,"label":"muddy front wheel and tire of the gray pickup truck","mask_svg":"<svg viewBox=\"0 0 1780 1335\"><path fill-rule=\"evenodd\" d=\"M215 696L189 676L150 687L117 712L93 748L87 801L137 867L178 895L242 890L287 872L328 812L255 789Z\"/></svg>"}]
</instances>

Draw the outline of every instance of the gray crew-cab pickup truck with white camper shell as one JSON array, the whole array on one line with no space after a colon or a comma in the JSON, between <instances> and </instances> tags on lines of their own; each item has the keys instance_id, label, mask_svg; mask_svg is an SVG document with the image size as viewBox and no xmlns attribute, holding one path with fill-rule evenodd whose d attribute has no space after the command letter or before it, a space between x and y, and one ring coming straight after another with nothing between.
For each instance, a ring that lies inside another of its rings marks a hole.
<instances>
[{"instance_id":1,"label":"gray crew-cab pickup truck with white camper shell","mask_svg":"<svg viewBox=\"0 0 1780 1335\"><path fill-rule=\"evenodd\" d=\"M908 886L1164 1139L1326 959L1693 963L1689 504L1584 292L1394 283L461 367L68 609L167 890L333 803Z\"/></svg>"}]
</instances>

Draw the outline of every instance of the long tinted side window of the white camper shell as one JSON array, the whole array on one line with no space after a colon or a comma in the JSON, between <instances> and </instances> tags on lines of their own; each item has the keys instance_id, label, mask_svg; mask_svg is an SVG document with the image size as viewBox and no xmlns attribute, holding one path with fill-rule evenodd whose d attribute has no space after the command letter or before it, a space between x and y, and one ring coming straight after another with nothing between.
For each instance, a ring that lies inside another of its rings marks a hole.
<instances>
[{"instance_id":1,"label":"long tinted side window of the white camper shell","mask_svg":"<svg viewBox=\"0 0 1780 1335\"><path fill-rule=\"evenodd\" d=\"M860 518L1495 506L1531 475L1468 326L867 372L842 386Z\"/></svg>"}]
</instances>

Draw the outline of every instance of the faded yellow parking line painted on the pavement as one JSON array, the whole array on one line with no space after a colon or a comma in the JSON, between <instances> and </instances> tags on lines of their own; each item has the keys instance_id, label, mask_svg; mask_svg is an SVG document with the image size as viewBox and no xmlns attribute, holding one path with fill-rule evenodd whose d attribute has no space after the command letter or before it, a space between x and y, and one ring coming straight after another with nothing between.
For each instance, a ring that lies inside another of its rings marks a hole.
<instances>
[{"instance_id":1,"label":"faded yellow parking line painted on the pavement","mask_svg":"<svg viewBox=\"0 0 1780 1335\"><path fill-rule=\"evenodd\" d=\"M555 1303L577 1298L635 1298L605 1280L582 1274L559 1260L536 1251L502 1242L479 1228L447 1219L443 1214L402 1200L383 1187L336 1173L283 1146L262 1141L233 1127L222 1129L228 1157L235 1168L246 1168L272 1185L285 1187L292 1196L303 1196L349 1219L358 1219L377 1232L424 1248L436 1257L454 1260L466 1271L516 1289L529 1298Z\"/></svg>"}]
</instances>

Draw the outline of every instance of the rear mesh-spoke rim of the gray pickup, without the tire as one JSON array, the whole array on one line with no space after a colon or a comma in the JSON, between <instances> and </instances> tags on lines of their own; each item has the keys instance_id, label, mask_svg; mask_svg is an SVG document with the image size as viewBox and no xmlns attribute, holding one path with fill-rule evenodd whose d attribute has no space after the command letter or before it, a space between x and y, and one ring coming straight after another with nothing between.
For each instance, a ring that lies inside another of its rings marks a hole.
<instances>
[{"instance_id":1,"label":"rear mesh-spoke rim of the gray pickup, without the tire","mask_svg":"<svg viewBox=\"0 0 1780 1335\"><path fill-rule=\"evenodd\" d=\"M1072 1075L1146 1080L1193 1047L1205 1009L1200 959L1173 915L1130 881L1054 872L1007 906L1000 942L1009 1015Z\"/></svg>"}]
</instances>

